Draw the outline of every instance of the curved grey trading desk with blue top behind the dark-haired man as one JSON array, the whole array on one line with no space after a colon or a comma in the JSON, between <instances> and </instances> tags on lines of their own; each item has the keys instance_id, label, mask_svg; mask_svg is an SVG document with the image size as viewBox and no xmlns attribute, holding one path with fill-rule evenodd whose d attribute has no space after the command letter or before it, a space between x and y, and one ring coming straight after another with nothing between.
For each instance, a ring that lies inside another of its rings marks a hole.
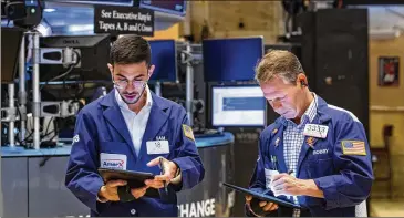
<instances>
[{"instance_id":1,"label":"curved grey trading desk with blue top behind the dark-haired man","mask_svg":"<svg viewBox=\"0 0 404 218\"><path fill-rule=\"evenodd\" d=\"M178 194L179 217L229 217L235 193L222 186L234 181L234 135L197 137L205 179ZM85 217L90 209L64 186L71 146L49 149L1 148L4 217Z\"/></svg>"}]
</instances>

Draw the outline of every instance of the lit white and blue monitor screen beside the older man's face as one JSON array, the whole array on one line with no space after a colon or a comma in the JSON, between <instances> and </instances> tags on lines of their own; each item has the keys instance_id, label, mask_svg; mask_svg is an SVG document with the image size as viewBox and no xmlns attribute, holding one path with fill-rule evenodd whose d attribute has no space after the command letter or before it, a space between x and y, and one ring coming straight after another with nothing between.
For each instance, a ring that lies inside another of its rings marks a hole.
<instances>
[{"instance_id":1,"label":"lit white and blue monitor screen beside the older man's face","mask_svg":"<svg viewBox=\"0 0 404 218\"><path fill-rule=\"evenodd\" d=\"M266 98L258 85L213 86L211 101L215 127L266 124Z\"/></svg>"}]
</instances>

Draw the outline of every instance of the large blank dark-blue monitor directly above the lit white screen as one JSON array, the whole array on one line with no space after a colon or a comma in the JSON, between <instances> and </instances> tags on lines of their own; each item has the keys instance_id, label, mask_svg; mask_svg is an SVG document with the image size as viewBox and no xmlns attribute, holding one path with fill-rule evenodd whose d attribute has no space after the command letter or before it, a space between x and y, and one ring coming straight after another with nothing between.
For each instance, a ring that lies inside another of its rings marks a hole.
<instances>
[{"instance_id":1,"label":"large blank dark-blue monitor directly above the lit white screen","mask_svg":"<svg viewBox=\"0 0 404 218\"><path fill-rule=\"evenodd\" d=\"M251 81L262 55L261 37L204 40L205 82Z\"/></svg>"}]
</instances>

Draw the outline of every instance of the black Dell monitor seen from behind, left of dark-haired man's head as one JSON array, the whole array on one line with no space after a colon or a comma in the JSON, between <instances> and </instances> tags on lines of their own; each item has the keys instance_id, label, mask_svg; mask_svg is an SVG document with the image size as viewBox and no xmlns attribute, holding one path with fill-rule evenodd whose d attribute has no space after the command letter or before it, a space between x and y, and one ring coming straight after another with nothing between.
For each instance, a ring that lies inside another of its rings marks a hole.
<instances>
[{"instance_id":1,"label":"black Dell monitor seen from behind, left of dark-haired man's head","mask_svg":"<svg viewBox=\"0 0 404 218\"><path fill-rule=\"evenodd\" d=\"M54 81L111 81L107 68L110 61L110 34L95 35L58 35L40 39L41 48L72 48L79 49L81 64L71 73ZM50 80L65 73L68 68L62 64L40 64L40 82Z\"/></svg>"}]
</instances>

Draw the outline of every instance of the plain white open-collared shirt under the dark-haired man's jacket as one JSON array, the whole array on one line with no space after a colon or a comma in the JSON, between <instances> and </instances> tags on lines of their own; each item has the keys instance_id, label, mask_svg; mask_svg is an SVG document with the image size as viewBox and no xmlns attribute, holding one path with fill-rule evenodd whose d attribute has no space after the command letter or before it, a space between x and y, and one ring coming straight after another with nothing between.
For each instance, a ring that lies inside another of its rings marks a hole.
<instances>
[{"instance_id":1,"label":"plain white open-collared shirt under the dark-haired man's jacket","mask_svg":"<svg viewBox=\"0 0 404 218\"><path fill-rule=\"evenodd\" d=\"M148 86L146 86L145 92L147 94L146 104L137 114L131 111L127 104L122 100L120 93L117 91L115 92L115 98L121 108L122 115L124 116L127 129L131 133L136 155L138 155L138 153L141 152L143 135L146 129L148 116L151 115L153 104L152 94L148 90Z\"/></svg>"}]
</instances>

